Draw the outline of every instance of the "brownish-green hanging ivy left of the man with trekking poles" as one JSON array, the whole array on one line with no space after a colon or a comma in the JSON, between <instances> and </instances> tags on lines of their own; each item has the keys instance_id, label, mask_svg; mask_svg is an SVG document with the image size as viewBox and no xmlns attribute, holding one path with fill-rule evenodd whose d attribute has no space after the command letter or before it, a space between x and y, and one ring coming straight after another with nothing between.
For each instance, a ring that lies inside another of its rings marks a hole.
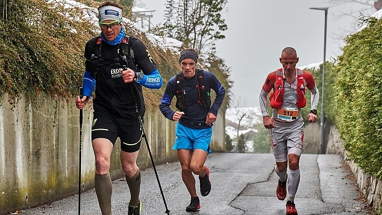
<instances>
[{"instance_id":1,"label":"brownish-green hanging ivy left of the man with trekking poles","mask_svg":"<svg viewBox=\"0 0 382 215\"><path fill-rule=\"evenodd\" d=\"M8 1L7 10L7 19L0 19L0 94L75 94L92 26L67 17L81 12L38 0Z\"/></svg>"}]
</instances>

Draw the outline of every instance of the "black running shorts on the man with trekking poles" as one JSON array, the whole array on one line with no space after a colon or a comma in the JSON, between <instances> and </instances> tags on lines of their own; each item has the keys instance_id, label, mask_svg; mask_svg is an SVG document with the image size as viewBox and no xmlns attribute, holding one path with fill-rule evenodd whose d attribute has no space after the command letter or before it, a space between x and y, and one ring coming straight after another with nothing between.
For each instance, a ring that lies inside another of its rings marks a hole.
<instances>
[{"instance_id":1,"label":"black running shorts on the man with trekking poles","mask_svg":"<svg viewBox=\"0 0 382 215\"><path fill-rule=\"evenodd\" d=\"M141 146L143 131L138 120L115 118L102 111L94 111L91 125L91 140L105 138L115 144L121 141L121 150L136 152Z\"/></svg>"}]
</instances>

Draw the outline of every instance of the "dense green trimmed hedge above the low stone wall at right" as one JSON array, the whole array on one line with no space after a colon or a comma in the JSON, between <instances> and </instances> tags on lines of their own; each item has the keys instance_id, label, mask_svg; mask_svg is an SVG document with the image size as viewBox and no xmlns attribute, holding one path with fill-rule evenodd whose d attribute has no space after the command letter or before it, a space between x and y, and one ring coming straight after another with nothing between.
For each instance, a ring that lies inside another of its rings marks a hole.
<instances>
[{"instance_id":1,"label":"dense green trimmed hedge above the low stone wall at right","mask_svg":"<svg viewBox=\"0 0 382 215\"><path fill-rule=\"evenodd\" d=\"M382 179L382 21L367 24L337 59L336 125L350 158Z\"/></svg>"}]
</instances>

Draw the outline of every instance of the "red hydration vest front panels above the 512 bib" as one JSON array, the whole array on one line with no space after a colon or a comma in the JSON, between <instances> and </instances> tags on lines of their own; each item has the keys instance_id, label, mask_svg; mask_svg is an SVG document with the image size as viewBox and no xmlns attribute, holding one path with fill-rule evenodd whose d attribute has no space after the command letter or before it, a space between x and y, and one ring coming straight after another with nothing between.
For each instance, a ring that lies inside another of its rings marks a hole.
<instances>
[{"instance_id":1,"label":"red hydration vest front panels above the 512 bib","mask_svg":"<svg viewBox=\"0 0 382 215\"><path fill-rule=\"evenodd\" d=\"M297 103L298 107L305 107L307 99L305 98L305 83L303 70L297 69ZM276 81L274 82L273 91L270 93L270 107L272 109L280 109L282 106L282 99L284 95L284 77L282 75L282 68L276 70Z\"/></svg>"}]
</instances>

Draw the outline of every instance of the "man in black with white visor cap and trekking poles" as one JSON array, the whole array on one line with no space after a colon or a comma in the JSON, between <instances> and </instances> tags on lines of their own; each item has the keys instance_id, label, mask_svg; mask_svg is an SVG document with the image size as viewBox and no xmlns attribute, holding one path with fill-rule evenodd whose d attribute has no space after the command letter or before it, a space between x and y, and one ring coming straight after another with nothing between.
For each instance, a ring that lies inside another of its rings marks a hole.
<instances>
[{"instance_id":1,"label":"man in black with white visor cap and trekking poles","mask_svg":"<svg viewBox=\"0 0 382 215\"><path fill-rule=\"evenodd\" d=\"M86 43L83 97L77 96L75 103L78 109L83 109L96 86L91 144L96 158L94 186L102 214L112 214L113 188L109 169L112 150L119 137L122 170L130 189L128 214L139 215L142 210L139 199L141 172L136 160L142 138L147 143L143 130L142 86L158 89L162 86L162 78L145 44L125 33L123 7L105 2L98 11L101 34ZM160 187L159 179L158 184ZM165 203L163 192L162 197Z\"/></svg>"}]
</instances>

